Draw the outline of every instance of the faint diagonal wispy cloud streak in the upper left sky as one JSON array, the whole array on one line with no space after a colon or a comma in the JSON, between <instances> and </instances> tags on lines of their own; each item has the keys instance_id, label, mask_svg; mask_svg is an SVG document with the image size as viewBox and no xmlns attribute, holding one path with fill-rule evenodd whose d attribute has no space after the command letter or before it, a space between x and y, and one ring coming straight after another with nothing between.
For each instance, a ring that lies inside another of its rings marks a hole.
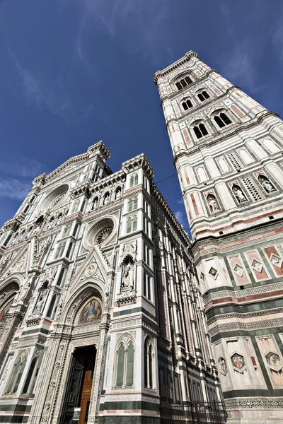
<instances>
[{"instance_id":1,"label":"faint diagonal wispy cloud streak in the upper left sky","mask_svg":"<svg viewBox=\"0 0 283 424\"><path fill-rule=\"evenodd\" d=\"M33 104L37 108L46 108L54 115L59 115L67 119L73 112L71 97L62 86L55 83L54 87L46 81L40 81L31 71L25 69L16 56L8 49L23 87L23 95L28 105Z\"/></svg>"}]
</instances>

